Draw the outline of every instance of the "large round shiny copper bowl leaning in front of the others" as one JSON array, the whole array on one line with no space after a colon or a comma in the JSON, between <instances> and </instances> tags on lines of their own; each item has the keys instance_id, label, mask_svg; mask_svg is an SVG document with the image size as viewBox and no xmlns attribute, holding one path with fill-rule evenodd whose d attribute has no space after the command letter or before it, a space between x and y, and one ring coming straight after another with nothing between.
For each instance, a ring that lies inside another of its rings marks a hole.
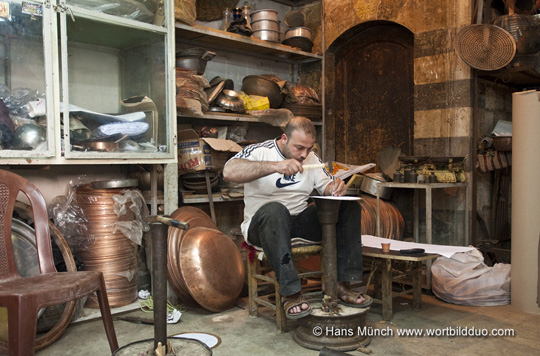
<instances>
[{"instance_id":1,"label":"large round shiny copper bowl leaning in front of the others","mask_svg":"<svg viewBox=\"0 0 540 356\"><path fill-rule=\"evenodd\" d=\"M219 230L190 228L180 243L180 272L191 296L205 309L221 312L234 306L245 270L235 243Z\"/></svg>"}]
</instances>

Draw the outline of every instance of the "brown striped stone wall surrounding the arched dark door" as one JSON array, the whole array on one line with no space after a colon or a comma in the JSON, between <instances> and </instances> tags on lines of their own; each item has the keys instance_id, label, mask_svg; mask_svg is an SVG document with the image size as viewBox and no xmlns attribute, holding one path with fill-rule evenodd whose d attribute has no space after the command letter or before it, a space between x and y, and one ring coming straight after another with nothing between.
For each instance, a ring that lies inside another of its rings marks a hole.
<instances>
[{"instance_id":1,"label":"brown striped stone wall surrounding the arched dark door","mask_svg":"<svg viewBox=\"0 0 540 356\"><path fill-rule=\"evenodd\" d=\"M371 21L392 21L414 34L414 154L416 156L467 157L466 176L472 181L475 147L473 142L472 73L454 51L457 31L471 23L472 0L324 0L323 51L347 30ZM322 32L316 33L321 36ZM315 42L317 42L315 40ZM330 70L331 71L331 70ZM327 73L326 77L330 76ZM332 140L327 138L327 140ZM328 142L328 141L327 141ZM472 183L469 183L473 192ZM452 192L455 193L455 192ZM445 199L441 208L455 215L470 211L473 199L465 194ZM447 195L452 195L447 192ZM472 194L470 194L472 197ZM435 207L434 207L435 208ZM442 224L456 225L461 216ZM469 218L469 221L472 219ZM469 224L471 226L471 224ZM459 230L459 229L458 229ZM440 243L456 243L459 232L448 232ZM470 234L469 234L470 236ZM461 239L458 239L461 240ZM435 236L434 236L434 242Z\"/></svg>"}]
</instances>

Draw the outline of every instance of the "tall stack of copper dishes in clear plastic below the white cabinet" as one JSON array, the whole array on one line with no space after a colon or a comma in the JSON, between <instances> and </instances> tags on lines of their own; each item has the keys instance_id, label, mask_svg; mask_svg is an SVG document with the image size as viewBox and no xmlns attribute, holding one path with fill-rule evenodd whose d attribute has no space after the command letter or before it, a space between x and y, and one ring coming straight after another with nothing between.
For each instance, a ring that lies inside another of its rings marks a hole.
<instances>
[{"instance_id":1,"label":"tall stack of copper dishes in clear plastic below the white cabinet","mask_svg":"<svg viewBox=\"0 0 540 356\"><path fill-rule=\"evenodd\" d=\"M133 181L136 185L137 181ZM121 307L137 299L137 244L115 226L118 222L135 220L129 209L131 203L126 204L124 215L115 212L113 197L124 191L125 188L94 189L92 184L81 185L76 190L76 202L88 220L81 237L86 240L85 247L77 251L77 257L85 271L103 272L111 307ZM99 307L96 296L90 296L86 306Z\"/></svg>"}]
</instances>

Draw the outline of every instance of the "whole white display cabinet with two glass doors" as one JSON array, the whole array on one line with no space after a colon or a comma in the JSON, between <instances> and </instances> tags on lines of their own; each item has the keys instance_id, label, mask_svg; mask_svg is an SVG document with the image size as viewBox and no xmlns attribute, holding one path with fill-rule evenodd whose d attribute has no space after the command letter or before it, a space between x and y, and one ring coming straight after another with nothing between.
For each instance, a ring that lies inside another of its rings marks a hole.
<instances>
[{"instance_id":1,"label":"whole white display cabinet with two glass doors","mask_svg":"<svg viewBox=\"0 0 540 356\"><path fill-rule=\"evenodd\" d=\"M170 3L0 1L0 162L174 163Z\"/></svg>"}]
</instances>

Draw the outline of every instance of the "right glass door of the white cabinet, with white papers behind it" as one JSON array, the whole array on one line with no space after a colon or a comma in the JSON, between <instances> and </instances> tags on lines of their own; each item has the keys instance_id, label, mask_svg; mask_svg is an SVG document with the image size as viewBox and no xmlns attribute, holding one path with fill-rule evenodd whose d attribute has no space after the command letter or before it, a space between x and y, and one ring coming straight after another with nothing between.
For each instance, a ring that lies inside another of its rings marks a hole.
<instances>
[{"instance_id":1,"label":"right glass door of the white cabinet, with white papers behind it","mask_svg":"<svg viewBox=\"0 0 540 356\"><path fill-rule=\"evenodd\" d=\"M59 12L65 157L173 157L167 30L76 3Z\"/></svg>"}]
</instances>

